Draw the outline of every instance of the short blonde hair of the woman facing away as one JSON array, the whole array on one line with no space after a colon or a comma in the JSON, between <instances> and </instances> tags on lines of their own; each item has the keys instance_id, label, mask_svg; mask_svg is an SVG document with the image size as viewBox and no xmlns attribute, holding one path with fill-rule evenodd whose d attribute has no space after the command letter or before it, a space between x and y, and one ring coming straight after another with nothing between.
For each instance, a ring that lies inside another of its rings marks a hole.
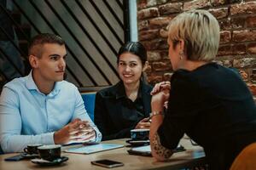
<instances>
[{"instance_id":1,"label":"short blonde hair of the woman facing away","mask_svg":"<svg viewBox=\"0 0 256 170\"><path fill-rule=\"evenodd\" d=\"M184 53L189 60L212 61L218 53L218 20L207 10L191 10L178 14L168 26L168 42L176 47L185 42Z\"/></svg>"}]
</instances>

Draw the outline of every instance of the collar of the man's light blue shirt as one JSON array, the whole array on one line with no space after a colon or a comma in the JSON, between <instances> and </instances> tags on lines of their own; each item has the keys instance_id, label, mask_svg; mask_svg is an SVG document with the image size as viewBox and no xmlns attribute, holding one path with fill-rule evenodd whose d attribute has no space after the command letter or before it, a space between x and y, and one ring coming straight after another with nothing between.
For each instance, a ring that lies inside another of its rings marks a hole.
<instances>
[{"instance_id":1,"label":"collar of the man's light blue shirt","mask_svg":"<svg viewBox=\"0 0 256 170\"><path fill-rule=\"evenodd\" d=\"M40 92L40 90L38 89L38 86L36 85L36 83L33 80L32 71L30 71L29 75L27 76L26 88L29 90L36 90L38 92L38 94L43 94L42 92ZM47 96L53 97L56 94L59 94L60 91L61 91L61 82L55 82L55 87L49 94L47 94Z\"/></svg>"}]
</instances>

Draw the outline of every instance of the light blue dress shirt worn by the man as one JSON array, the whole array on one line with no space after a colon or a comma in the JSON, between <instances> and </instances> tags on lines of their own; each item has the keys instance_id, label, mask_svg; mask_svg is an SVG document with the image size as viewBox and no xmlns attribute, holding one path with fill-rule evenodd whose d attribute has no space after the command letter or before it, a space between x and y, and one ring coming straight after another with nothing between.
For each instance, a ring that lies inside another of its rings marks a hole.
<instances>
[{"instance_id":1,"label":"light blue dress shirt worn by the man","mask_svg":"<svg viewBox=\"0 0 256 170\"><path fill-rule=\"evenodd\" d=\"M3 152L20 152L27 144L55 144L54 133L73 119L90 122L96 142L102 133L84 109L78 88L72 83L55 82L50 94L42 94L32 79L16 78L3 87L0 97L0 144Z\"/></svg>"}]
</instances>

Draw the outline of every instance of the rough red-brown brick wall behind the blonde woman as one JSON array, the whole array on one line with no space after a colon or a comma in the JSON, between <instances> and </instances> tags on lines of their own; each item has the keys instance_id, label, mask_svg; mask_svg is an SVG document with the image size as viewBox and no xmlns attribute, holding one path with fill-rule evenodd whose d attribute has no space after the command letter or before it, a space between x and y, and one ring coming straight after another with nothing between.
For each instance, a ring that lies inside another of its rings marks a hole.
<instances>
[{"instance_id":1,"label":"rough red-brown brick wall behind the blonde woman","mask_svg":"<svg viewBox=\"0 0 256 170\"><path fill-rule=\"evenodd\" d=\"M148 49L148 82L172 76L166 26L177 14L193 8L211 12L220 25L217 61L237 68L256 94L256 1L242 0L137 0L139 41Z\"/></svg>"}]
</instances>

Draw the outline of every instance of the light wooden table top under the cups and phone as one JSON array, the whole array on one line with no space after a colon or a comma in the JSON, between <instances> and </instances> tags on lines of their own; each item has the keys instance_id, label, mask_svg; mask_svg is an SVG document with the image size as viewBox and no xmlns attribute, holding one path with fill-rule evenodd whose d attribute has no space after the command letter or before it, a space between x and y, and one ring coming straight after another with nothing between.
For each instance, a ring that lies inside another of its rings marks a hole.
<instances>
[{"instance_id":1,"label":"light wooden table top under the cups and phone","mask_svg":"<svg viewBox=\"0 0 256 170\"><path fill-rule=\"evenodd\" d=\"M125 144L126 139L116 139L104 141L102 143L108 144ZM121 161L125 167L114 167L114 169L180 169L184 167L195 167L205 163L205 154L200 146L194 146L190 143L189 139L182 139L180 144L183 144L186 151L178 152L172 155L169 161L160 162L155 161L153 157L148 156L133 156L129 155L126 150L129 147L119 148L115 150L102 151L90 155L71 154L62 152L61 156L67 156L68 161L63 162L61 165L53 167L40 167L33 164L30 160L23 161L4 161L4 158L15 156L15 154L5 154L0 156L0 169L1 170L29 170L29 169L60 169L60 170L89 170L89 169L108 169L105 167L98 167L91 165L90 161L100 159L110 159L113 161ZM127 144L125 144L127 145ZM77 146L69 146L77 147ZM67 149L67 148L63 148Z\"/></svg>"}]
</instances>

